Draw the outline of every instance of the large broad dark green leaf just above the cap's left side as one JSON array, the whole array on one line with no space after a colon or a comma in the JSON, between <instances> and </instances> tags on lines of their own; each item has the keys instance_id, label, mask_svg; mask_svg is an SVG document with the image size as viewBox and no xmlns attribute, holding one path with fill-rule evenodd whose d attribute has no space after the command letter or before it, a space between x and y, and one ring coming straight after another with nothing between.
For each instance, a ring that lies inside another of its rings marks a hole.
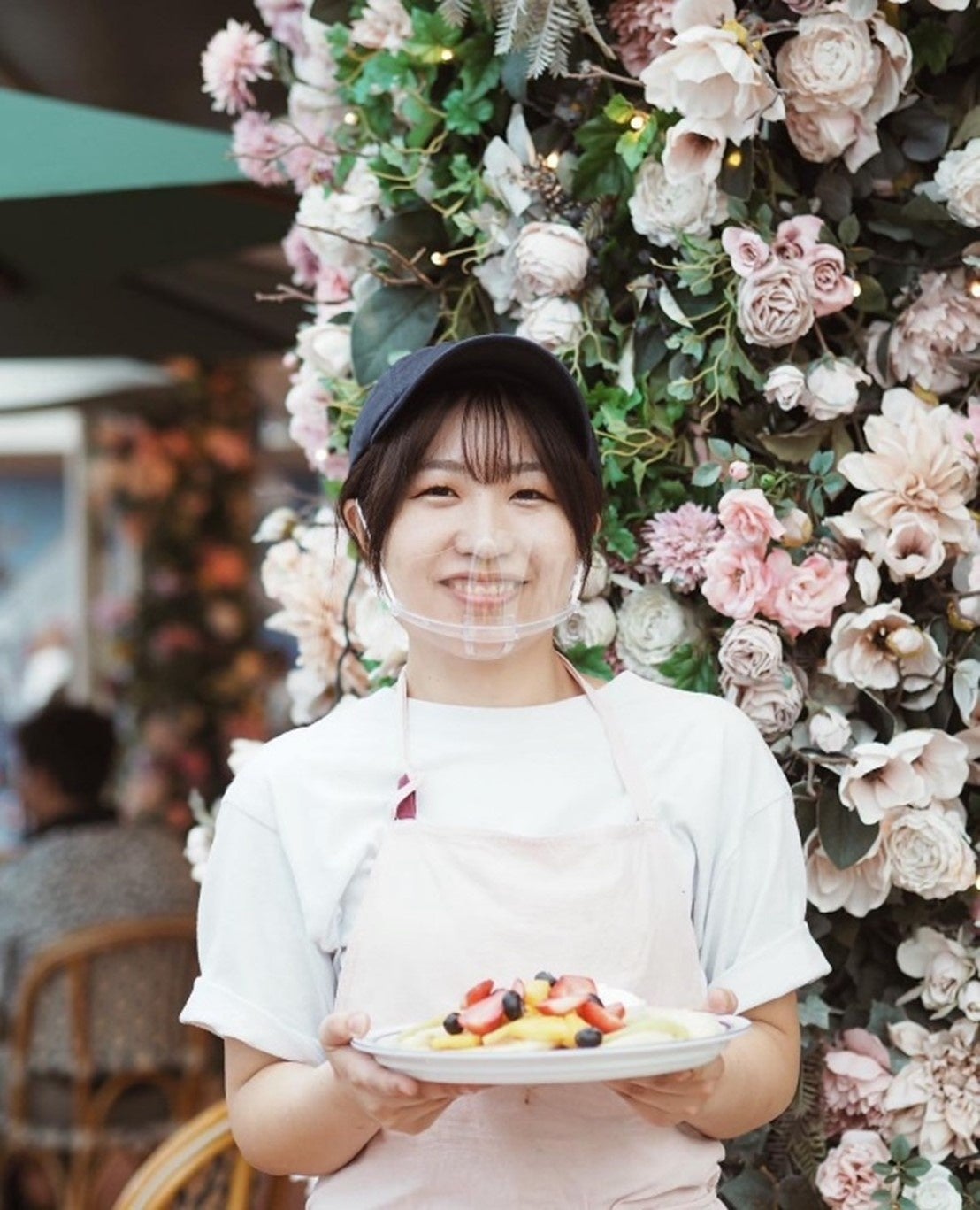
<instances>
[{"instance_id":1,"label":"large broad dark green leaf just above the cap's left side","mask_svg":"<svg viewBox=\"0 0 980 1210\"><path fill-rule=\"evenodd\" d=\"M382 286L358 309L350 329L354 375L375 382L398 355L428 345L439 323L439 295L422 286Z\"/></svg>"}]
</instances>

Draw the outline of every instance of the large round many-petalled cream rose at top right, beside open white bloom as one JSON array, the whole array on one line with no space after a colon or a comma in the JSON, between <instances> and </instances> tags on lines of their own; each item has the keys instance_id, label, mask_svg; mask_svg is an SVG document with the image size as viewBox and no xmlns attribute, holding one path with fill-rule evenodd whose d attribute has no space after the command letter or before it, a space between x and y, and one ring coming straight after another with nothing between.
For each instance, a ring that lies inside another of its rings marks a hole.
<instances>
[{"instance_id":1,"label":"large round many-petalled cream rose at top right, beside open white bloom","mask_svg":"<svg viewBox=\"0 0 980 1210\"><path fill-rule=\"evenodd\" d=\"M863 109L874 96L880 52L868 22L843 12L804 17L776 54L779 83L800 111Z\"/></svg>"}]
</instances>

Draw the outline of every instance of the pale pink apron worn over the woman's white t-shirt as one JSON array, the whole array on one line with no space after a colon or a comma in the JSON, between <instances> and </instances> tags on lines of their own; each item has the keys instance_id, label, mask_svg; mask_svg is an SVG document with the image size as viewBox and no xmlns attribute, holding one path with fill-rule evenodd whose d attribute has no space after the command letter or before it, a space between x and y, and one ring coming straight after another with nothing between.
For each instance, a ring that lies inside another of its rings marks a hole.
<instances>
[{"instance_id":1,"label":"pale pink apron worn over the woman's white t-shirt","mask_svg":"<svg viewBox=\"0 0 980 1210\"><path fill-rule=\"evenodd\" d=\"M701 1007L704 975L669 846L602 696L573 675L603 722L636 822L547 837L437 828L414 818L421 783L402 778L338 1010L364 1010L375 1026L424 1020L482 979L509 984L543 967ZM407 703L402 730L411 768ZM460 1097L421 1135L381 1131L320 1179L308 1208L707 1210L721 1205L721 1154L688 1127L650 1125L603 1084L492 1088Z\"/></svg>"}]
</instances>

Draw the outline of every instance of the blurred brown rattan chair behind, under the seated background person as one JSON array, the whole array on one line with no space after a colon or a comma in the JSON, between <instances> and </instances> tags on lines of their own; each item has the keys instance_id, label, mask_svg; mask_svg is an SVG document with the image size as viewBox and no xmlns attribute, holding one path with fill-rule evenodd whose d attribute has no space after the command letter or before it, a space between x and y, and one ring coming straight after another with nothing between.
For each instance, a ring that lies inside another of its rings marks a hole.
<instances>
[{"instance_id":1,"label":"blurred brown rattan chair behind, under the seated background person","mask_svg":"<svg viewBox=\"0 0 980 1210\"><path fill-rule=\"evenodd\" d=\"M34 957L11 1021L4 1183L29 1162L59 1210L87 1210L100 1157L146 1156L214 1096L213 1039L176 1020L196 970L185 916L95 924Z\"/></svg>"}]
</instances>

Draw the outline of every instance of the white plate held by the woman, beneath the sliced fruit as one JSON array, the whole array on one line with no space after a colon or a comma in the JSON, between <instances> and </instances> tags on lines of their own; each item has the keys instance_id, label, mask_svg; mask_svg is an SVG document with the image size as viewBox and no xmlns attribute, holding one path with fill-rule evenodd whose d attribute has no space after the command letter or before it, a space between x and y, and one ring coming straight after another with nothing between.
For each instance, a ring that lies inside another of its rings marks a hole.
<instances>
[{"instance_id":1,"label":"white plate held by the woman, beneath the sliced fruit","mask_svg":"<svg viewBox=\"0 0 980 1210\"><path fill-rule=\"evenodd\" d=\"M354 1048L383 1067L436 1084L580 1084L603 1079L638 1079L703 1067L744 1033L752 1021L719 1016L723 1033L686 1042L622 1042L574 1050L518 1050L477 1047L472 1050L411 1050L399 1045L407 1026L372 1030Z\"/></svg>"}]
</instances>

